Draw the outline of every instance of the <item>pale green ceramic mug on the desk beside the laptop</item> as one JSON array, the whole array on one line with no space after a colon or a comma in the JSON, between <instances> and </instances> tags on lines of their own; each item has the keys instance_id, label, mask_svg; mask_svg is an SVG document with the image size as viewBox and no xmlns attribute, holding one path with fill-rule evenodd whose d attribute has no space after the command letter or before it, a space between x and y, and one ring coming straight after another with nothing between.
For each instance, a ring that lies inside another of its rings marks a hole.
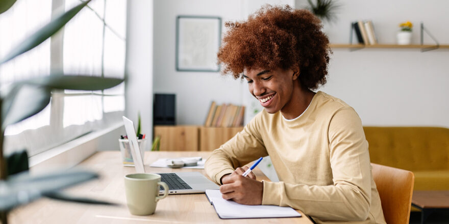
<instances>
[{"instance_id":1,"label":"pale green ceramic mug on the desk beside the laptop","mask_svg":"<svg viewBox=\"0 0 449 224\"><path fill-rule=\"evenodd\" d=\"M159 196L159 186L164 194ZM151 215L159 200L168 194L168 186L161 182L159 174L129 174L124 176L128 209L133 215Z\"/></svg>"}]
</instances>

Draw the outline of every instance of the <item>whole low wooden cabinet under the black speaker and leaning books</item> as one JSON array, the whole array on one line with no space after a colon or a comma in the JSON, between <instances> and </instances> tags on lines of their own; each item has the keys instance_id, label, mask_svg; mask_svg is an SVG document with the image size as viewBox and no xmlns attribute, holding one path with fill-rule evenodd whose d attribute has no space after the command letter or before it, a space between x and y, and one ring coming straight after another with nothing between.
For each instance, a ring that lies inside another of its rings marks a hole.
<instances>
[{"instance_id":1,"label":"whole low wooden cabinet under the black speaker and leaning books","mask_svg":"<svg viewBox=\"0 0 449 224\"><path fill-rule=\"evenodd\" d=\"M226 143L243 127L155 126L160 151L212 151Z\"/></svg>"}]
</instances>

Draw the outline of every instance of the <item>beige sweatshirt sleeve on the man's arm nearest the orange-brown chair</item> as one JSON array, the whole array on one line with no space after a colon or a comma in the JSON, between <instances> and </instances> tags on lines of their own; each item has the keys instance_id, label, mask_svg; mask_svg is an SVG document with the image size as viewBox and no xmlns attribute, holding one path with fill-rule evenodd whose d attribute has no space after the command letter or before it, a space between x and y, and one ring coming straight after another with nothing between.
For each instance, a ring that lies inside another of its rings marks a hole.
<instances>
[{"instance_id":1,"label":"beige sweatshirt sleeve on the man's arm nearest the orange-brown chair","mask_svg":"<svg viewBox=\"0 0 449 224\"><path fill-rule=\"evenodd\" d=\"M263 182L263 205L290 206L328 220L365 220L371 205L368 143L357 113L343 107L329 123L333 185ZM313 161L311 161L313 162Z\"/></svg>"}]
</instances>

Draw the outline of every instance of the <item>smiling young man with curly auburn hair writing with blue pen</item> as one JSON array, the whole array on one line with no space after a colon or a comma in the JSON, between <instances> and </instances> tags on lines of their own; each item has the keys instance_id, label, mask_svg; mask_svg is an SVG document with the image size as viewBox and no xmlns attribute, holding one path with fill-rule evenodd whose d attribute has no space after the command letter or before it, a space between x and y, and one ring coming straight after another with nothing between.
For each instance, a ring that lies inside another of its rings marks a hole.
<instances>
[{"instance_id":1,"label":"smiling young man with curly auburn hair writing with blue pen","mask_svg":"<svg viewBox=\"0 0 449 224\"><path fill-rule=\"evenodd\" d=\"M318 223L385 223L360 118L343 101L312 91L326 83L331 53L319 19L265 6L227 26L218 53L223 73L246 79L264 110L206 162L222 197L290 206ZM241 176L243 165L267 155L280 182Z\"/></svg>"}]
</instances>

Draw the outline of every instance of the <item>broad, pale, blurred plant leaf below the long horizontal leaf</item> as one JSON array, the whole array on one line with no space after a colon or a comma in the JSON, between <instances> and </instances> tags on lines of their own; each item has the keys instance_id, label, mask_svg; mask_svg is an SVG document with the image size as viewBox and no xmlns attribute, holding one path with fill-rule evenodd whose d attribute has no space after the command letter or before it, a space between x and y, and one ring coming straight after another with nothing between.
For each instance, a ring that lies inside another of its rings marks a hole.
<instances>
[{"instance_id":1,"label":"broad, pale, blurred plant leaf below the long horizontal leaf","mask_svg":"<svg viewBox=\"0 0 449 224\"><path fill-rule=\"evenodd\" d=\"M16 84L2 101L2 130L41 111L51 99L46 87Z\"/></svg>"}]
</instances>

